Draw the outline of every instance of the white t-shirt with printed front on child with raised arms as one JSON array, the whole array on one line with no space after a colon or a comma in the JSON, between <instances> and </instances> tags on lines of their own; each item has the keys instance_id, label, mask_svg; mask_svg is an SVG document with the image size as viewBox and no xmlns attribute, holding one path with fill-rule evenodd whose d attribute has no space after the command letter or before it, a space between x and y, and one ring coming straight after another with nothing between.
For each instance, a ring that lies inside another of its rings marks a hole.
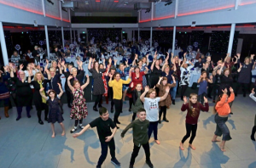
<instances>
[{"instance_id":1,"label":"white t-shirt with printed front on child with raised arms","mask_svg":"<svg viewBox=\"0 0 256 168\"><path fill-rule=\"evenodd\" d=\"M146 109L146 119L150 122L158 121L160 98L144 98L144 109Z\"/></svg>"}]
</instances>

